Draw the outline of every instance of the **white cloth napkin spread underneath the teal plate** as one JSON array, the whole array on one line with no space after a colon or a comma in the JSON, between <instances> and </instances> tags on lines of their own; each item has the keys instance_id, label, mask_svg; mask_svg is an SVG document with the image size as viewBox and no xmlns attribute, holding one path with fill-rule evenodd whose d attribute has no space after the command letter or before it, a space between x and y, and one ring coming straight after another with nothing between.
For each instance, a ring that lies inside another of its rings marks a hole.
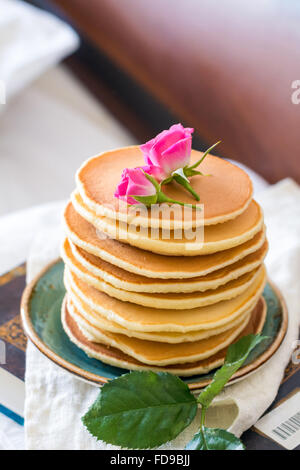
<instances>
[{"instance_id":1,"label":"white cloth napkin spread underneath the teal plate","mask_svg":"<svg viewBox=\"0 0 300 470\"><path fill-rule=\"evenodd\" d=\"M269 275L281 289L289 309L286 338L273 356L247 380L228 387L208 416L208 425L224 426L237 436L252 426L276 396L286 364L298 338L300 311L300 189L284 180L256 196L265 212L270 242ZM52 212L53 215L53 212ZM58 220L41 232L28 259L28 280L58 253ZM47 220L48 226L50 220ZM98 395L97 387L74 378L28 345L25 432L28 449L114 449L97 442L80 418ZM196 431L195 422L165 449L182 449Z\"/></svg>"}]
</instances>

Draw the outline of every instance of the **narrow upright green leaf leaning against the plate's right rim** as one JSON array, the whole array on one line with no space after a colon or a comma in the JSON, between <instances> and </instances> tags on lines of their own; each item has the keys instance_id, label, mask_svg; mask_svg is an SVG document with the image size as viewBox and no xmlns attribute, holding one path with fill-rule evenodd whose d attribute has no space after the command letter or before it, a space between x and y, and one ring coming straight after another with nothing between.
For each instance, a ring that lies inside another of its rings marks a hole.
<instances>
[{"instance_id":1,"label":"narrow upright green leaf leaning against the plate's right rim","mask_svg":"<svg viewBox=\"0 0 300 470\"><path fill-rule=\"evenodd\" d=\"M212 382L200 393L198 402L207 408L212 400L221 392L228 380L243 365L248 355L266 336L247 335L229 346L224 365L217 370Z\"/></svg>"}]
</instances>

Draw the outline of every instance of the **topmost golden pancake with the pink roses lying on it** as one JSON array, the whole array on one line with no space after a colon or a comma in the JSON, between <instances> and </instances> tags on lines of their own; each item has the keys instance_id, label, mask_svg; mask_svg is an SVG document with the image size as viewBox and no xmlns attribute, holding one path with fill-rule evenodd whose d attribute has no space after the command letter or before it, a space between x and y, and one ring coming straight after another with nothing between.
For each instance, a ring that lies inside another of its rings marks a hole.
<instances>
[{"instance_id":1,"label":"topmost golden pancake with the pink roses lying on it","mask_svg":"<svg viewBox=\"0 0 300 470\"><path fill-rule=\"evenodd\" d=\"M191 163L202 156L202 152L192 150ZM142 152L137 146L104 152L83 163L76 175L76 184L85 205L97 216L104 216L127 222L130 208L114 197L114 191L120 181L124 168L134 168L144 165ZM193 176L191 186L200 196L204 204L204 223L206 225L222 223L241 214L250 203L252 183L241 168L221 158L208 155L201 163L201 172L209 176ZM196 203L193 196L172 182L164 185L165 194L175 200L185 203ZM192 211L187 220L182 221L179 211L169 218L166 214L150 217L146 214L131 218L136 226L190 228L197 224L196 211Z\"/></svg>"}]
</instances>

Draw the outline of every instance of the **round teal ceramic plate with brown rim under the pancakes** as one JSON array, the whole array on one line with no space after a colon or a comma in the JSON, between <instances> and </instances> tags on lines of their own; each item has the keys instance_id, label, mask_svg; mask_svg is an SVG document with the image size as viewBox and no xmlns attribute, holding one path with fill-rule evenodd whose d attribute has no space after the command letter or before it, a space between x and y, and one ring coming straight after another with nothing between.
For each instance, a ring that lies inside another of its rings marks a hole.
<instances>
[{"instance_id":1,"label":"round teal ceramic plate with brown rim under the pancakes","mask_svg":"<svg viewBox=\"0 0 300 470\"><path fill-rule=\"evenodd\" d=\"M24 330L37 348L57 365L94 385L101 385L127 371L88 357L69 340L60 318L65 295L63 270L63 262L56 260L25 289L21 304ZM270 359L286 333L288 315L281 294L269 282L263 296L267 304L267 316L262 333L269 339L252 351L232 381L247 377ZM211 371L208 374L185 377L183 380L191 389L197 390L205 387L213 374L214 371Z\"/></svg>"}]
</instances>

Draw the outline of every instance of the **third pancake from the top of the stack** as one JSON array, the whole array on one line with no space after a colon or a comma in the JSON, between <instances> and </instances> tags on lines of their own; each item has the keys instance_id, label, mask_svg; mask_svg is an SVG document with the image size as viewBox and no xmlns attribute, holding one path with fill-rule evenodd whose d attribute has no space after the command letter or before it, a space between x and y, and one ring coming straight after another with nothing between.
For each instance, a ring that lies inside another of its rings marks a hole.
<instances>
[{"instance_id":1,"label":"third pancake from the top of the stack","mask_svg":"<svg viewBox=\"0 0 300 470\"><path fill-rule=\"evenodd\" d=\"M99 237L95 227L81 217L71 203L65 209L64 221L68 238L82 249L81 257L87 252L129 273L157 279L205 276L241 260L265 242L263 227L252 239L229 250L204 256L162 256L107 237ZM107 265L104 265L105 268Z\"/></svg>"}]
</instances>

